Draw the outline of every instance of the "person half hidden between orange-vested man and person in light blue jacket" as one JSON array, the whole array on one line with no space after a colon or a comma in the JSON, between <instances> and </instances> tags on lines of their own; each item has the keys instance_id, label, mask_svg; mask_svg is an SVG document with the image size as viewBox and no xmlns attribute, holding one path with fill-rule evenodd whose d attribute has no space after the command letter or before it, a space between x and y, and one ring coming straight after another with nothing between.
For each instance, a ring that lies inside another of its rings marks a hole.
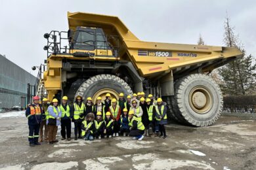
<instances>
[{"instance_id":1,"label":"person half hidden between orange-vested man and person in light blue jacket","mask_svg":"<svg viewBox=\"0 0 256 170\"><path fill-rule=\"evenodd\" d=\"M45 141L48 141L48 126L46 124L47 122L47 116L48 116L48 99L43 98L43 104L42 104L42 108L43 108L43 120L40 124L40 130L39 130L39 143L43 142L43 135L45 135ZM45 127L45 131L43 131L43 127Z\"/></svg>"}]
</instances>

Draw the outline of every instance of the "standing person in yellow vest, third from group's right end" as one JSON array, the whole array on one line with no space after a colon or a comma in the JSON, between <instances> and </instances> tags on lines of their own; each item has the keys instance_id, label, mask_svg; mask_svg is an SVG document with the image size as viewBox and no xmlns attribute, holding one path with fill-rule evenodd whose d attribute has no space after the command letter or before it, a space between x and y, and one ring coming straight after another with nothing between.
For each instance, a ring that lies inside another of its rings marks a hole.
<instances>
[{"instance_id":1,"label":"standing person in yellow vest, third from group's right end","mask_svg":"<svg viewBox=\"0 0 256 170\"><path fill-rule=\"evenodd\" d=\"M152 128L152 133L156 134L156 119L155 115L153 114L154 112L156 112L156 108L154 105L152 105L149 98L146 99L146 109L148 111L148 120L150 122L150 127ZM148 129L148 134L150 135L150 129Z\"/></svg>"}]
</instances>

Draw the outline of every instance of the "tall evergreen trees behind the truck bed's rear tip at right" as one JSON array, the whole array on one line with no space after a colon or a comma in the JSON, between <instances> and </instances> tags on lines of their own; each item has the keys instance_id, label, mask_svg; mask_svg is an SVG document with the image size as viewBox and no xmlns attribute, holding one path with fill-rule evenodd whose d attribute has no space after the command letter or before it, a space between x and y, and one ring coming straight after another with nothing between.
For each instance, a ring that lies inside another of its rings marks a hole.
<instances>
[{"instance_id":1,"label":"tall evergreen trees behind the truck bed's rear tip at right","mask_svg":"<svg viewBox=\"0 0 256 170\"><path fill-rule=\"evenodd\" d=\"M234 34L234 27L230 25L230 18L224 22L224 44L228 47L236 47L242 50L242 58L232 61L220 69L224 83L220 84L223 92L229 95L245 95L255 89L256 63L251 54L245 56L245 50L239 41L238 35Z\"/></svg>"}]
</instances>

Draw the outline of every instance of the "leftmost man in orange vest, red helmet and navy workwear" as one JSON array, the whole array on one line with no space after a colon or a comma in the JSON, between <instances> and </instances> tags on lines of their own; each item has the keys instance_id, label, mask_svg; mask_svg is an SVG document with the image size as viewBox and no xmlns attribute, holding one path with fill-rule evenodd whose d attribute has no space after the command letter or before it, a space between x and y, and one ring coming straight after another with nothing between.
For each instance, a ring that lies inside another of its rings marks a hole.
<instances>
[{"instance_id":1,"label":"leftmost man in orange vest, red helmet and navy workwear","mask_svg":"<svg viewBox=\"0 0 256 170\"><path fill-rule=\"evenodd\" d=\"M41 106L39 105L39 97L33 97L33 104L28 105L26 109L26 117L28 118L28 141L30 142L30 146L40 145L38 142L39 137L39 128L41 120L43 119L43 112Z\"/></svg>"}]
</instances>

